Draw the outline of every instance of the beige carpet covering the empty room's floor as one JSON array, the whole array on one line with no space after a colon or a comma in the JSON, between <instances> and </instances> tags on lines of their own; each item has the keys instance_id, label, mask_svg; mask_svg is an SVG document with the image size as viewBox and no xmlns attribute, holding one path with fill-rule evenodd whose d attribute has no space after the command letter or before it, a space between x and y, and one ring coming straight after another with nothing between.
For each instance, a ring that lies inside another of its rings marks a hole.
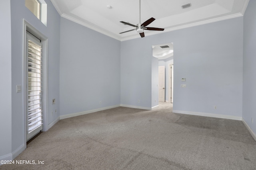
<instances>
[{"instance_id":1,"label":"beige carpet covering the empty room's floor","mask_svg":"<svg viewBox=\"0 0 256 170\"><path fill-rule=\"evenodd\" d=\"M58 121L9 170L255 170L256 141L242 121L117 107Z\"/></svg>"}]
</instances>

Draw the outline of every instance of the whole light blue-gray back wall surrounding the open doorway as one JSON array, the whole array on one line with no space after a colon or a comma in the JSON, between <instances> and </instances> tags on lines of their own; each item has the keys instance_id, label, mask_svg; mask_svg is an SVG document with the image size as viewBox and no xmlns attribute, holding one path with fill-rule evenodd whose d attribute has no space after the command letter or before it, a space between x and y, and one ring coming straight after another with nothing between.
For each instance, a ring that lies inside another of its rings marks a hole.
<instances>
[{"instance_id":1,"label":"whole light blue-gray back wall surrounding the open doorway","mask_svg":"<svg viewBox=\"0 0 256 170\"><path fill-rule=\"evenodd\" d=\"M170 42L174 109L242 117L242 17L121 42L121 104L151 107L151 45Z\"/></svg>"}]
</instances>

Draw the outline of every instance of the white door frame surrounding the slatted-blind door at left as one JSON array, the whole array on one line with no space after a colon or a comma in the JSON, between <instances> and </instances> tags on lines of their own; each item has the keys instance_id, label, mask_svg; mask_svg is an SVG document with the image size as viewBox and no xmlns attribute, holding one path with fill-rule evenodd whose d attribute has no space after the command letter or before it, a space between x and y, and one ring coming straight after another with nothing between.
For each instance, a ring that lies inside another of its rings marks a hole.
<instances>
[{"instance_id":1,"label":"white door frame surrounding the slatted-blind door at left","mask_svg":"<svg viewBox=\"0 0 256 170\"><path fill-rule=\"evenodd\" d=\"M40 38L42 44L42 110L43 110L43 129L42 131L48 130L48 37L38 31L35 27L33 27L28 21L23 19L23 52L22 52L22 85L23 85L23 115L24 115L24 146L26 149L26 33L30 32L32 35Z\"/></svg>"}]
</instances>

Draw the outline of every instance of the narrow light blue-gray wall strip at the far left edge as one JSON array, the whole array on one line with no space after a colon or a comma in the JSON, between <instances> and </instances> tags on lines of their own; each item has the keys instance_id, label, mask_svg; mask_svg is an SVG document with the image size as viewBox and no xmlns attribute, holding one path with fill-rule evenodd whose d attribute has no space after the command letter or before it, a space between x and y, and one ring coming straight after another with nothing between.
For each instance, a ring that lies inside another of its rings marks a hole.
<instances>
[{"instance_id":1,"label":"narrow light blue-gray wall strip at the far left edge","mask_svg":"<svg viewBox=\"0 0 256 170\"><path fill-rule=\"evenodd\" d=\"M12 152L12 48L10 0L0 1L0 157ZM0 158L0 160L2 160Z\"/></svg>"}]
</instances>

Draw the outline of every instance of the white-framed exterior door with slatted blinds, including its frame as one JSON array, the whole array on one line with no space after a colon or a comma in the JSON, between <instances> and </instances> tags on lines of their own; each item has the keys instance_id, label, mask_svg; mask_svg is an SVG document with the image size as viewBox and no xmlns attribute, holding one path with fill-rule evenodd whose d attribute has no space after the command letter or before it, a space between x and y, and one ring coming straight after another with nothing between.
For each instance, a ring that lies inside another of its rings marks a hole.
<instances>
[{"instance_id":1,"label":"white-framed exterior door with slatted blinds, including its frame","mask_svg":"<svg viewBox=\"0 0 256 170\"><path fill-rule=\"evenodd\" d=\"M48 38L23 20L24 143L48 130Z\"/></svg>"}]
</instances>

